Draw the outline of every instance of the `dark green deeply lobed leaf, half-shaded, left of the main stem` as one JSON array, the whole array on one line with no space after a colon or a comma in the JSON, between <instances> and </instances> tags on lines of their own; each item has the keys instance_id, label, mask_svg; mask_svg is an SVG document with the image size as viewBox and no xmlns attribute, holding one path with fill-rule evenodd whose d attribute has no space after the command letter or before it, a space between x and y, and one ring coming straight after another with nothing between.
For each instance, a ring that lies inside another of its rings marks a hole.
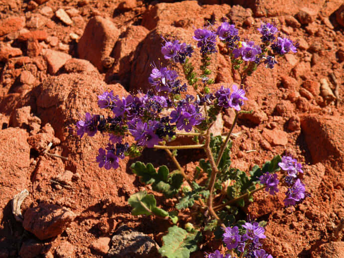
<instances>
[{"instance_id":1,"label":"dark green deeply lobed leaf, half-shaded, left of the main stem","mask_svg":"<svg viewBox=\"0 0 344 258\"><path fill-rule=\"evenodd\" d=\"M163 193L166 197L171 197L178 193L183 182L183 176L179 173L170 173L167 166L161 166L158 172L152 165L145 165L137 161L131 166L133 173L140 177L140 182L152 184L152 189Z\"/></svg>"}]
</instances>

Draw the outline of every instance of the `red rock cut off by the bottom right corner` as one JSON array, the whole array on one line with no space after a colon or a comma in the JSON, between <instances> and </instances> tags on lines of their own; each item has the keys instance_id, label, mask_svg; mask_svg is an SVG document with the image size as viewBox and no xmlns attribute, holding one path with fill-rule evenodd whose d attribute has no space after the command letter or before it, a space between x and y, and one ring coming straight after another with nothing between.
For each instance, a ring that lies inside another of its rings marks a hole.
<instances>
[{"instance_id":1,"label":"red rock cut off by the bottom right corner","mask_svg":"<svg viewBox=\"0 0 344 258\"><path fill-rule=\"evenodd\" d=\"M312 252L311 258L342 258L344 257L344 242L324 243Z\"/></svg>"}]
</instances>

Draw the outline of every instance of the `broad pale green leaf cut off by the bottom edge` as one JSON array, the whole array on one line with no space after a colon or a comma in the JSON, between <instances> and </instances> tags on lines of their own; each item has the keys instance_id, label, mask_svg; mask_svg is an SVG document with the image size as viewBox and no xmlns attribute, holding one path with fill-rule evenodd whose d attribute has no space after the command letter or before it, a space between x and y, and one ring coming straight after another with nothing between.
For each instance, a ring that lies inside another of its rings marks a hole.
<instances>
[{"instance_id":1,"label":"broad pale green leaf cut off by the bottom edge","mask_svg":"<svg viewBox=\"0 0 344 258\"><path fill-rule=\"evenodd\" d=\"M189 258L190 253L197 250L197 243L201 239L202 235L199 231L188 233L184 229L173 226L163 237L164 245L159 253L167 258Z\"/></svg>"}]
</instances>

